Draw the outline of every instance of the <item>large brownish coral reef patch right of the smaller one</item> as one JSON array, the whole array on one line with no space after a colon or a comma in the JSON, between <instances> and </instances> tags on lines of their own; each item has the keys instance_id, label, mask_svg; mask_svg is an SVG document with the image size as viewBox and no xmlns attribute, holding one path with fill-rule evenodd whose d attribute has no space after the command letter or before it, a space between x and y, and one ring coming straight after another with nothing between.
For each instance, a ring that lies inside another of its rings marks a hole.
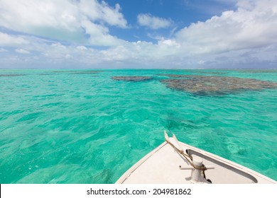
<instances>
[{"instance_id":1,"label":"large brownish coral reef patch right of the smaller one","mask_svg":"<svg viewBox=\"0 0 277 198\"><path fill-rule=\"evenodd\" d=\"M237 91L259 91L277 88L277 83L252 78L227 76L164 75L172 79L161 80L168 88L197 95L225 95Z\"/></svg>"}]
</instances>

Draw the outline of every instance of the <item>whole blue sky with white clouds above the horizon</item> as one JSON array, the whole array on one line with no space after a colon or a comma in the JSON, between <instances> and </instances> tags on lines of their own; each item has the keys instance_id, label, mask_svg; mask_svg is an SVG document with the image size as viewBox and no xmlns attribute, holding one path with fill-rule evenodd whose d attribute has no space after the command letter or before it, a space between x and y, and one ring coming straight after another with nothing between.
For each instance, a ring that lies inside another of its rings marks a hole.
<instances>
[{"instance_id":1,"label":"whole blue sky with white clouds above the horizon","mask_svg":"<svg viewBox=\"0 0 277 198\"><path fill-rule=\"evenodd\" d=\"M0 0L0 69L277 69L276 0Z\"/></svg>"}]
</instances>

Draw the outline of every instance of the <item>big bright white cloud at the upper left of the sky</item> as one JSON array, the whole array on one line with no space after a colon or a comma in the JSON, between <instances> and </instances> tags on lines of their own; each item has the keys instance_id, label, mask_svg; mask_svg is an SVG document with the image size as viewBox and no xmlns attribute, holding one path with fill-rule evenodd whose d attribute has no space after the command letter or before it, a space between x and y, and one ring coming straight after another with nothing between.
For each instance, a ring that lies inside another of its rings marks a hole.
<instances>
[{"instance_id":1,"label":"big bright white cloud at the upper left of the sky","mask_svg":"<svg viewBox=\"0 0 277 198\"><path fill-rule=\"evenodd\" d=\"M96 43L95 39L89 40L91 45L102 45L101 39L103 45L110 45L106 38L112 35L105 24L127 27L120 10L119 4L112 7L97 0L2 0L0 24L10 30L70 42L85 42L87 37L97 37ZM114 37L114 40L118 39Z\"/></svg>"}]
</instances>

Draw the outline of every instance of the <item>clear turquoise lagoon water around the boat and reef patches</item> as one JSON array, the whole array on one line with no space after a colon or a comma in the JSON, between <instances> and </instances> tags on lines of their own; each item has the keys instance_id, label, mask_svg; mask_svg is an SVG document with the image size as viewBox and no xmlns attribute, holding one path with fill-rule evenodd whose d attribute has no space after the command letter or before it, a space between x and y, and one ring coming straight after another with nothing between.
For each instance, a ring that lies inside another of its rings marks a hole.
<instances>
[{"instance_id":1,"label":"clear turquoise lagoon water around the boat and reef patches","mask_svg":"<svg viewBox=\"0 0 277 198\"><path fill-rule=\"evenodd\" d=\"M276 89L195 95L158 75L277 82L277 70L59 71L0 70L0 183L114 183L164 129L277 180Z\"/></svg>"}]
</instances>

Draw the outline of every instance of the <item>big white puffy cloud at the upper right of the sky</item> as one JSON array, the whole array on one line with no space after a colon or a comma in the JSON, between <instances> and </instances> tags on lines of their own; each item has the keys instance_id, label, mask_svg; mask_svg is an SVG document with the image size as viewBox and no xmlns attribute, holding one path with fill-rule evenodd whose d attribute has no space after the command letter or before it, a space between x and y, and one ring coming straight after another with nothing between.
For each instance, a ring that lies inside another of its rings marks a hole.
<instances>
[{"instance_id":1,"label":"big white puffy cloud at the upper right of the sky","mask_svg":"<svg viewBox=\"0 0 277 198\"><path fill-rule=\"evenodd\" d=\"M177 42L192 53L222 53L264 47L277 42L277 1L238 2L237 11L224 11L176 33Z\"/></svg>"}]
</instances>

